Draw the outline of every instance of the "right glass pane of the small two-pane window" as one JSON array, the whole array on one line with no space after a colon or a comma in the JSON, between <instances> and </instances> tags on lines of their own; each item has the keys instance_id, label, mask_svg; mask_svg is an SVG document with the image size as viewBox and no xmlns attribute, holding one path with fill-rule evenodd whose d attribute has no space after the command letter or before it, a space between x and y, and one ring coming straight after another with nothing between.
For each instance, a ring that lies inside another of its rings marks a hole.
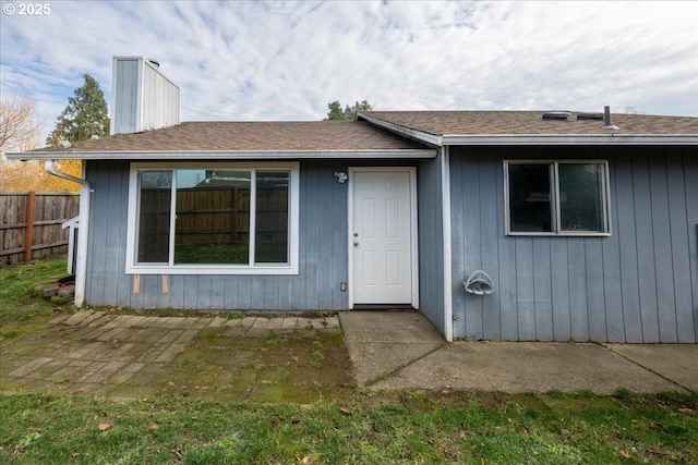
<instances>
[{"instance_id":1,"label":"right glass pane of the small two-pane window","mask_svg":"<svg viewBox=\"0 0 698 465\"><path fill-rule=\"evenodd\" d=\"M561 163L558 182L561 230L603 231L603 166Z\"/></svg>"}]
</instances>

